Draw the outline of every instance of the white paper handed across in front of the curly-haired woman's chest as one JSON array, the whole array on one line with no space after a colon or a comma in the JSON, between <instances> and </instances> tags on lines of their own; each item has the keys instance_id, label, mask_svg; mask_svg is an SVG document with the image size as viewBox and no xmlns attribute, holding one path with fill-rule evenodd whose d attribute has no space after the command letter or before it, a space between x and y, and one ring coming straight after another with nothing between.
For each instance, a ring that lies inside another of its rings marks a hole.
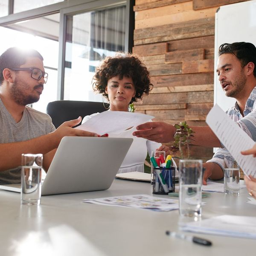
<instances>
[{"instance_id":1,"label":"white paper handed across in front of the curly-haired woman's chest","mask_svg":"<svg viewBox=\"0 0 256 256\"><path fill-rule=\"evenodd\" d=\"M154 116L142 113L133 113L125 111L104 111L92 116L76 129L91 131L97 134L117 134L128 128L140 125L153 119Z\"/></svg>"}]
</instances>

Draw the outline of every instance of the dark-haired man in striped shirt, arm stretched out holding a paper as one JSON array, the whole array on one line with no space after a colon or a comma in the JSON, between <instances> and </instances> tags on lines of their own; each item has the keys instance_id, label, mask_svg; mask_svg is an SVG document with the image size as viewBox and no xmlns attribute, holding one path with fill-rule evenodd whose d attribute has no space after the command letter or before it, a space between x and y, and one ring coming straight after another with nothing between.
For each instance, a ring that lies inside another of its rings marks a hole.
<instances>
[{"instance_id":1,"label":"dark-haired man in striped shirt, arm stretched out holding a paper","mask_svg":"<svg viewBox=\"0 0 256 256\"><path fill-rule=\"evenodd\" d=\"M236 104L227 110L227 115L256 141L256 47L251 43L222 44L218 51L216 72L227 97L236 99ZM204 163L203 184L207 178L223 177L224 154L230 154L209 127L191 127L195 131L192 144L218 147L211 160ZM137 126L134 136L160 143L173 140L175 127L165 122L148 122ZM236 138L234 138L236 140Z\"/></svg>"}]
</instances>

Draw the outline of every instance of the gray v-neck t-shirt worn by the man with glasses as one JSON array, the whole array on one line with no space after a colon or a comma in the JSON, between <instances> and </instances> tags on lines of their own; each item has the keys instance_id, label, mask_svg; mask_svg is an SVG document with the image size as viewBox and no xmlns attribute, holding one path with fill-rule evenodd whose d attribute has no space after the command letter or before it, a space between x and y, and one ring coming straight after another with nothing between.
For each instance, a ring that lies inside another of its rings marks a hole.
<instances>
[{"instance_id":1,"label":"gray v-neck t-shirt worn by the man with glasses","mask_svg":"<svg viewBox=\"0 0 256 256\"><path fill-rule=\"evenodd\" d=\"M52 131L55 127L49 115L26 106L20 122L16 123L0 99L0 143L31 140ZM0 172L1 185L15 183L20 183L20 167Z\"/></svg>"}]
</instances>

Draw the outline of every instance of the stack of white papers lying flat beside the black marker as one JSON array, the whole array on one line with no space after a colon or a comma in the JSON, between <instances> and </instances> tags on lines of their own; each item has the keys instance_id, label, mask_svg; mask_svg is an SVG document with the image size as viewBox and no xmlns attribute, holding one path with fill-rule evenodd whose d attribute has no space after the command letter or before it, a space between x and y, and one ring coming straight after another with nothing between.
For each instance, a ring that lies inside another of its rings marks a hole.
<instances>
[{"instance_id":1,"label":"stack of white papers lying flat beside the black marker","mask_svg":"<svg viewBox=\"0 0 256 256\"><path fill-rule=\"evenodd\" d=\"M184 223L181 230L256 239L256 217L221 215L202 221Z\"/></svg>"}]
</instances>

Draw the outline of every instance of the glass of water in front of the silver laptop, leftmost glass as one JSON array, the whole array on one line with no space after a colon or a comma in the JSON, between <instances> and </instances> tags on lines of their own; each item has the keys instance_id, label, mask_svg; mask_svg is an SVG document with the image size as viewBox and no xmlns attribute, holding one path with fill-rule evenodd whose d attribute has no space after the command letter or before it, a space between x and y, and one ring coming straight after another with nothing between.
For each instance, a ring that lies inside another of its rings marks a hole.
<instances>
[{"instance_id":1,"label":"glass of water in front of the silver laptop, leftmost glass","mask_svg":"<svg viewBox=\"0 0 256 256\"><path fill-rule=\"evenodd\" d=\"M21 204L40 204L42 166L42 154L21 155Z\"/></svg>"}]
</instances>

